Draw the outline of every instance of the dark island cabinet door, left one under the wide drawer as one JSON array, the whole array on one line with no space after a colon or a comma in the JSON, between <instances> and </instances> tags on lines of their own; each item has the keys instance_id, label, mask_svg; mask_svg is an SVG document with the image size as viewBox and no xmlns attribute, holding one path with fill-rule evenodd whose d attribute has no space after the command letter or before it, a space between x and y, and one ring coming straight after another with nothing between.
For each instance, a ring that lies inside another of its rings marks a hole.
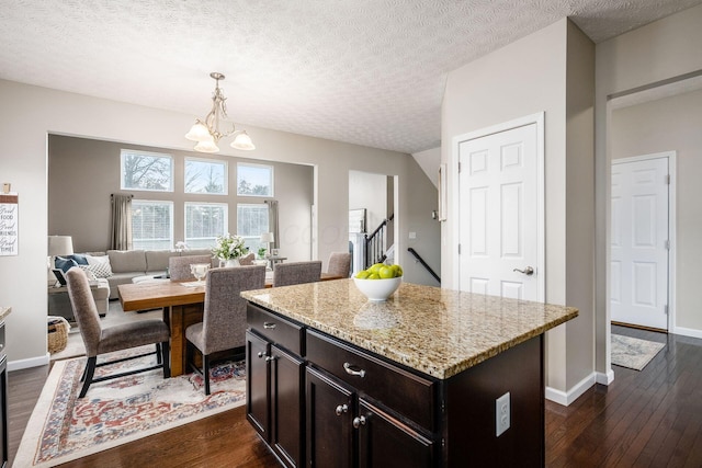
<instances>
[{"instance_id":1,"label":"dark island cabinet door, left one under the wide drawer","mask_svg":"<svg viewBox=\"0 0 702 468\"><path fill-rule=\"evenodd\" d=\"M354 466L354 393L324 374L307 367L307 466Z\"/></svg>"}]
</instances>

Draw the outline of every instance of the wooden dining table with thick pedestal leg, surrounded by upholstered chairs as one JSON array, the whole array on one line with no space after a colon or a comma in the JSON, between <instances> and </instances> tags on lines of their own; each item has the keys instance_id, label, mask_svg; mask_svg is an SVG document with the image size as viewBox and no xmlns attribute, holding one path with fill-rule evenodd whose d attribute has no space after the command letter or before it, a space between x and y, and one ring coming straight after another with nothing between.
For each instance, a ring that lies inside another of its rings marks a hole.
<instances>
[{"instance_id":1,"label":"wooden dining table with thick pedestal leg, surrounded by upholstered chairs","mask_svg":"<svg viewBox=\"0 0 702 468\"><path fill-rule=\"evenodd\" d=\"M341 276L322 273L320 281L341 279ZM163 321L171 332L171 376L185 373L185 329L202 321L205 286L184 286L170 279L128 283L117 286L120 303L125 312L163 309ZM272 278L265 287L272 287Z\"/></svg>"}]
</instances>

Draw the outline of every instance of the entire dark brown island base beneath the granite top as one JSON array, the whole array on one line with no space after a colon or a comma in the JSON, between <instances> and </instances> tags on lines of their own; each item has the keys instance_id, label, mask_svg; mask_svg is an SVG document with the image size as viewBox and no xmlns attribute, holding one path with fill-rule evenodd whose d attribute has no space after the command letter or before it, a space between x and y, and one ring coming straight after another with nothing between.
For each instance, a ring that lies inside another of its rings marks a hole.
<instances>
[{"instance_id":1,"label":"entire dark brown island base beneath the granite top","mask_svg":"<svg viewBox=\"0 0 702 468\"><path fill-rule=\"evenodd\" d=\"M438 379L252 304L248 321L248 419L285 466L544 466L543 335Z\"/></svg>"}]
</instances>

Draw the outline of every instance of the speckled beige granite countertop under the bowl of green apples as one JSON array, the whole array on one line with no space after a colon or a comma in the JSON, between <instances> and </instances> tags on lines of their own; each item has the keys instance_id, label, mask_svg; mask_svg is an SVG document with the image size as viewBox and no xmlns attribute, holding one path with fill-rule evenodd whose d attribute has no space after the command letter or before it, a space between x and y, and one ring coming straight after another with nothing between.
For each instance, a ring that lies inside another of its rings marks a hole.
<instances>
[{"instance_id":1,"label":"speckled beige granite countertop under the bowl of green apples","mask_svg":"<svg viewBox=\"0 0 702 468\"><path fill-rule=\"evenodd\" d=\"M578 316L573 307L404 283L370 303L353 279L241 293L310 328L446 379Z\"/></svg>"}]
</instances>

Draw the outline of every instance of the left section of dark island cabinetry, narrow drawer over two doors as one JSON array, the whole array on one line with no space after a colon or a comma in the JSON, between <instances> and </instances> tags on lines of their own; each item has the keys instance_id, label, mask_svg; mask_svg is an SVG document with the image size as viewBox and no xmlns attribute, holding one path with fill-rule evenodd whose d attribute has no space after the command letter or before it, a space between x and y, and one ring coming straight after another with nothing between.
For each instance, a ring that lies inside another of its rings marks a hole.
<instances>
[{"instance_id":1,"label":"left section of dark island cabinetry, narrow drawer over two doors","mask_svg":"<svg viewBox=\"0 0 702 468\"><path fill-rule=\"evenodd\" d=\"M247 418L280 460L303 460L303 330L280 317L249 308L247 332ZM279 341L293 350L286 350Z\"/></svg>"}]
</instances>

